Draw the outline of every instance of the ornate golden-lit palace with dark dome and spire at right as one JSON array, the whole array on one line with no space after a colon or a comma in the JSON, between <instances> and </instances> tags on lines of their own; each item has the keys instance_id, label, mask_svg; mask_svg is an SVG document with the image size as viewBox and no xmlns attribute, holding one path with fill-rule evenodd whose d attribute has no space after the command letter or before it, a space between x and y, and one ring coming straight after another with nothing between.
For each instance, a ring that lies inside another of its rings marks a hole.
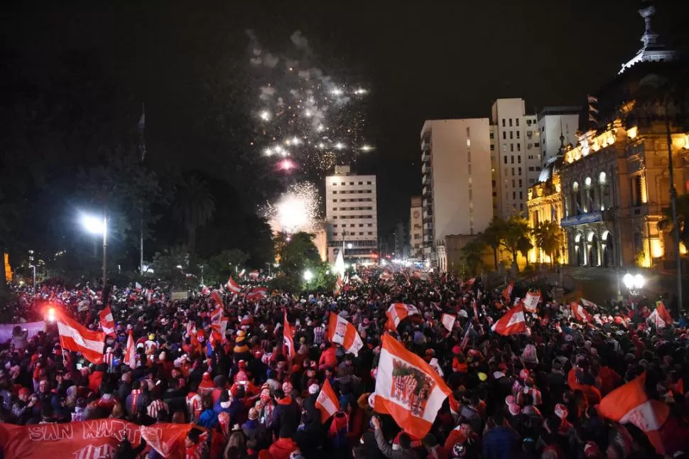
<instances>
[{"instance_id":1,"label":"ornate golden-lit palace with dark dome and spire at right","mask_svg":"<svg viewBox=\"0 0 689 459\"><path fill-rule=\"evenodd\" d=\"M653 6L639 13L644 46L590 98L587 129L560 167L560 225L574 266L653 267L676 257L658 222L671 206L669 157L677 193L689 191L687 68L657 43Z\"/></svg>"}]
</instances>

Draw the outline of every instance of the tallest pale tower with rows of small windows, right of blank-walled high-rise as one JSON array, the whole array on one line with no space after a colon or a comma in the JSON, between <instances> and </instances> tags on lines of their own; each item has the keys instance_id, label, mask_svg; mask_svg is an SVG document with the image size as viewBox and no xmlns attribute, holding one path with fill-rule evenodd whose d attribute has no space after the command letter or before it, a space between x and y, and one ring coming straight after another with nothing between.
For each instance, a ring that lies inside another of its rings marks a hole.
<instances>
[{"instance_id":1,"label":"tallest pale tower with rows of small windows, right of blank-walled high-rise","mask_svg":"<svg viewBox=\"0 0 689 459\"><path fill-rule=\"evenodd\" d=\"M526 193L541 173L541 139L536 115L524 99L497 99L491 110L491 153L496 215L526 217Z\"/></svg>"}]
</instances>

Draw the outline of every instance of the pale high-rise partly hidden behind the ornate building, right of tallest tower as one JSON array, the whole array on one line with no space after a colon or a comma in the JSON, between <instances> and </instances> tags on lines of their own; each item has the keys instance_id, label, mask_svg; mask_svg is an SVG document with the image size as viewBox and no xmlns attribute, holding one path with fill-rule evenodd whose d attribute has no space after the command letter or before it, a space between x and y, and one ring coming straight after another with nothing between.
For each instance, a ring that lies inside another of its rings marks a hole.
<instances>
[{"instance_id":1,"label":"pale high-rise partly hidden behind the ornate building, right of tallest tower","mask_svg":"<svg viewBox=\"0 0 689 459\"><path fill-rule=\"evenodd\" d=\"M541 132L541 164L545 166L560 151L560 134L564 144L577 144L581 107L544 107L538 114L538 131Z\"/></svg>"}]
</instances>

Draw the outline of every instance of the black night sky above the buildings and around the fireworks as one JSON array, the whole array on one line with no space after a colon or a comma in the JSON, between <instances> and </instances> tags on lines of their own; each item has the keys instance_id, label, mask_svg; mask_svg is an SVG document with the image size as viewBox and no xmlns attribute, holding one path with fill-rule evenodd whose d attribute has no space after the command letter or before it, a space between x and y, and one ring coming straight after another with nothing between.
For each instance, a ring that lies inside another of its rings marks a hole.
<instances>
[{"instance_id":1,"label":"black night sky above the buildings and around the fireworks","mask_svg":"<svg viewBox=\"0 0 689 459\"><path fill-rule=\"evenodd\" d=\"M666 3L666 6L662 6ZM60 6L56 6L59 4ZM668 41L684 1L661 2L654 28ZM113 6L117 5L117 6ZM320 67L371 90L366 139L376 151L359 172L379 177L381 234L409 218L421 192L419 131L425 119L489 117L493 99L527 109L583 104L641 43L636 1L16 1L0 27L21 65L50 77L65 51L96 50L146 101L151 161L207 168L187 104L200 76L236 83L229 108L250 124L242 91L251 28L266 48L308 38ZM685 7L684 7L685 9ZM6 70L6 69L5 69ZM237 139L242 141L245 139ZM248 140L248 139L247 139ZM251 148L246 146L246 148Z\"/></svg>"}]
</instances>

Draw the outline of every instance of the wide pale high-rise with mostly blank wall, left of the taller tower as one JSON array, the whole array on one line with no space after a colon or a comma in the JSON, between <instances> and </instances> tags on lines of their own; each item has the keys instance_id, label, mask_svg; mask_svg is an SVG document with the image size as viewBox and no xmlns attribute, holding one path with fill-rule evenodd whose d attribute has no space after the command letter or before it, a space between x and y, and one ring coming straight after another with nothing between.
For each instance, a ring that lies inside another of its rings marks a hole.
<instances>
[{"instance_id":1,"label":"wide pale high-rise with mostly blank wall, left of the taller tower","mask_svg":"<svg viewBox=\"0 0 689 459\"><path fill-rule=\"evenodd\" d=\"M493 217L487 118L425 121L421 129L425 258L447 270L445 238L482 232Z\"/></svg>"}]
</instances>

